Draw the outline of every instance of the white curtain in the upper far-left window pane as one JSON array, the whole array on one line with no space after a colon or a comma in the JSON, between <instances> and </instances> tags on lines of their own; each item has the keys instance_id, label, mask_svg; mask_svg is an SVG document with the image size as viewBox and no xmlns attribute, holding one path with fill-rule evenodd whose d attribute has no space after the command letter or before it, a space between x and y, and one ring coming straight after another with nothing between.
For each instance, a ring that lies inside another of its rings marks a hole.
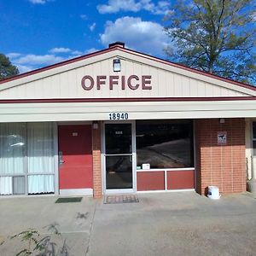
<instances>
[{"instance_id":1,"label":"white curtain in the upper far-left window pane","mask_svg":"<svg viewBox=\"0 0 256 256\"><path fill-rule=\"evenodd\" d=\"M25 131L22 123L0 124L0 175L25 172Z\"/></svg>"}]
</instances>

